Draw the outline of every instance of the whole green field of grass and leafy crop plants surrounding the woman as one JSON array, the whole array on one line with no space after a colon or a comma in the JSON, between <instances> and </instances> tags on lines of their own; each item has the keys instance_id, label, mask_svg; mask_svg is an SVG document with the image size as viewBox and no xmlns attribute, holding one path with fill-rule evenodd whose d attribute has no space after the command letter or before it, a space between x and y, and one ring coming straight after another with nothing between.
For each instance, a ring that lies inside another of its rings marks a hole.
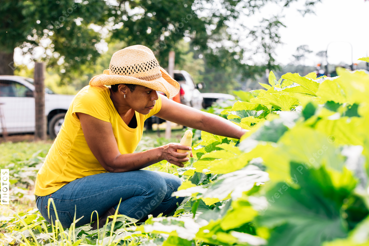
<instances>
[{"instance_id":1,"label":"whole green field of grass and leafy crop plants surrounding the woman","mask_svg":"<svg viewBox=\"0 0 369 246\"><path fill-rule=\"evenodd\" d=\"M51 143L2 143L11 176L1 207L1 243L9 245L364 246L369 245L369 74L338 77L273 72L265 90L208 111L249 131L231 139L193 131L194 157L177 175L185 197L177 211L145 223L123 215L103 229L50 225L35 208L32 185ZM179 142L144 136L137 151ZM11 212L11 209L13 212ZM75 218L78 219L78 218Z\"/></svg>"}]
</instances>

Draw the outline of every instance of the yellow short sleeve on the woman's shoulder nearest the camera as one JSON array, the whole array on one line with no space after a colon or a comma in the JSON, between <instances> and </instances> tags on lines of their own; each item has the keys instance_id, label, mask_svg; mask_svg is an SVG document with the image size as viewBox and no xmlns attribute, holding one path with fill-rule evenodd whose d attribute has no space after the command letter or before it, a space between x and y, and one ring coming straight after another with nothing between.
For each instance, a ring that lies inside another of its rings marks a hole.
<instances>
[{"instance_id":1,"label":"yellow short sleeve on the woman's shoulder nearest the camera","mask_svg":"<svg viewBox=\"0 0 369 246\"><path fill-rule=\"evenodd\" d=\"M73 100L72 114L84 113L104 122L110 122L109 101L101 88L87 88L79 92Z\"/></svg>"}]
</instances>

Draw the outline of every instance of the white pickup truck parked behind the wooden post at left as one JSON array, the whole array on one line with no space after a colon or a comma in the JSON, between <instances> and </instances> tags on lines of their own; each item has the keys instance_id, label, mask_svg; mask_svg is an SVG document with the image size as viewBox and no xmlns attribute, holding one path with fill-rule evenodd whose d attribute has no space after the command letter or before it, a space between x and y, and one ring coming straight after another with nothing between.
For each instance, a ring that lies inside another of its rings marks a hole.
<instances>
[{"instance_id":1,"label":"white pickup truck parked behind the wooden post at left","mask_svg":"<svg viewBox=\"0 0 369 246\"><path fill-rule=\"evenodd\" d=\"M45 89L45 116L51 138L56 138L74 95L59 95ZM33 79L0 75L0 134L31 133L35 129Z\"/></svg>"}]
</instances>

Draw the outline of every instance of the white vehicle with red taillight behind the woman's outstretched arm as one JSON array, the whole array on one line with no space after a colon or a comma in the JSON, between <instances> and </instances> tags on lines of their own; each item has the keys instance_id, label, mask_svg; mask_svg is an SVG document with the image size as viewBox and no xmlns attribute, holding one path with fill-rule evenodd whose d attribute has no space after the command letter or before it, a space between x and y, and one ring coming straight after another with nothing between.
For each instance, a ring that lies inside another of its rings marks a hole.
<instances>
[{"instance_id":1,"label":"white vehicle with red taillight behind the woman's outstretched arm","mask_svg":"<svg viewBox=\"0 0 369 246\"><path fill-rule=\"evenodd\" d=\"M203 98L198 89L203 88L203 84L195 85L191 79L191 75L184 70L174 70L174 79L180 84L181 103L189 107L201 110ZM160 93L160 92L159 92ZM153 129L153 124L157 123L157 117L153 116L146 120L146 128ZM159 124L165 122L159 119Z\"/></svg>"}]
</instances>

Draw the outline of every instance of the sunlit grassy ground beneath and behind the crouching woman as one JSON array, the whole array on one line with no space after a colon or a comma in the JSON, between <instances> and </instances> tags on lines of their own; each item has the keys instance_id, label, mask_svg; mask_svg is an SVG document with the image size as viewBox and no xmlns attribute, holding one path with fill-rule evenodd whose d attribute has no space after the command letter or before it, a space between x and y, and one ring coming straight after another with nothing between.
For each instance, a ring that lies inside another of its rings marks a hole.
<instances>
[{"instance_id":1,"label":"sunlit grassy ground beneath and behind the crouching woman","mask_svg":"<svg viewBox=\"0 0 369 246\"><path fill-rule=\"evenodd\" d=\"M171 142L179 143L184 134L184 129L182 127L178 128L172 130L171 139L164 138L164 129L160 130L160 137L157 136L156 130L144 131L136 152L152 149ZM17 237L16 241L20 243L15 245L33 246L41 245L39 244L41 242L43 244L55 242L55 245L60 246L72 245L73 243L76 243L76 245L95 245L99 240L101 243L102 239L106 240L107 238L111 242L114 241L114 243L110 243L109 245L121 245L123 241L114 238L118 233L124 232L127 235L134 233L134 230L129 229L130 226L134 225L134 219L118 216L115 218L115 224L110 223L107 225L105 232L103 230L92 231L88 225L66 230L66 228L61 228L61 226L59 226L59 229L55 226L53 227L38 212L33 199L34 181L37 171L44 162L51 146L52 143L50 141L5 142L0 144L0 167L9 169L9 178L11 180L10 204L0 206L0 245L5 244L6 239L11 240L13 238L15 240L15 237ZM145 169L160 170L168 173L177 172L177 166L169 164L166 161L161 161ZM63 233L63 230L68 234ZM70 234L71 232L76 233L75 237ZM49 237L50 241L49 239L46 240L47 237ZM149 236L147 234L141 234L132 238L128 237L125 242L127 244L130 243L130 245L139 245L141 241L153 240L156 237L156 235ZM22 244L21 241L24 243Z\"/></svg>"}]
</instances>

